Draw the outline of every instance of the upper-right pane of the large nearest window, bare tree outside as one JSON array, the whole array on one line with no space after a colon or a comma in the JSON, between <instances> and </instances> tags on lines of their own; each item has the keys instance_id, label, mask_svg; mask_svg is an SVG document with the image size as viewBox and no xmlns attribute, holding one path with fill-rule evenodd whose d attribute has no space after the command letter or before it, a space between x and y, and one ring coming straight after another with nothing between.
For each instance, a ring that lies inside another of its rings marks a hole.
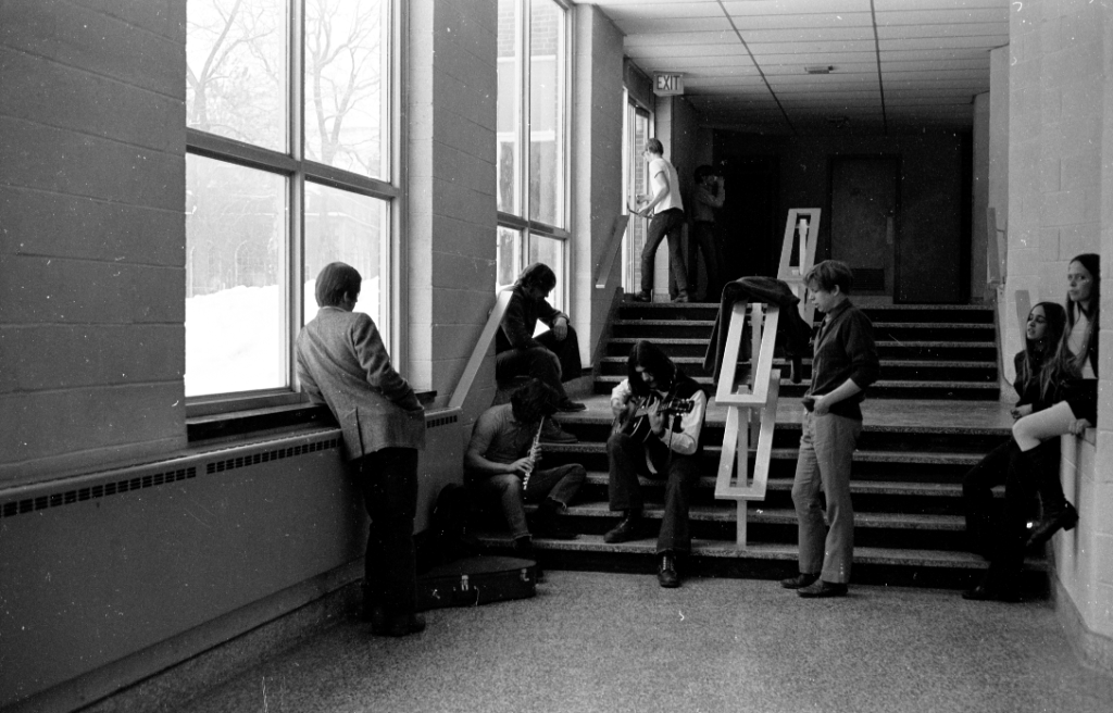
<instances>
[{"instance_id":1,"label":"upper-right pane of the large nearest window, bare tree outside","mask_svg":"<svg viewBox=\"0 0 1113 713\"><path fill-rule=\"evenodd\" d=\"M307 0L305 157L387 175L387 0Z\"/></svg>"}]
</instances>

